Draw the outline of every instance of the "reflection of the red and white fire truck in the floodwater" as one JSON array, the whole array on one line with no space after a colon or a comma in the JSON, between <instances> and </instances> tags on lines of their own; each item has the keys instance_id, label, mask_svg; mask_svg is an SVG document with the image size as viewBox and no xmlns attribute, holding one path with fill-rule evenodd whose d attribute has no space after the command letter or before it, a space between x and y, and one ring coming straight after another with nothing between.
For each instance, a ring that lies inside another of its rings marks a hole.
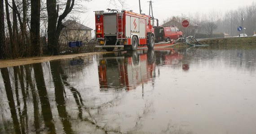
<instances>
[{"instance_id":1,"label":"reflection of the red and white fire truck in the floodwater","mask_svg":"<svg viewBox=\"0 0 256 134\"><path fill-rule=\"evenodd\" d=\"M154 50L104 54L98 74L101 89L134 89L155 77Z\"/></svg>"}]
</instances>

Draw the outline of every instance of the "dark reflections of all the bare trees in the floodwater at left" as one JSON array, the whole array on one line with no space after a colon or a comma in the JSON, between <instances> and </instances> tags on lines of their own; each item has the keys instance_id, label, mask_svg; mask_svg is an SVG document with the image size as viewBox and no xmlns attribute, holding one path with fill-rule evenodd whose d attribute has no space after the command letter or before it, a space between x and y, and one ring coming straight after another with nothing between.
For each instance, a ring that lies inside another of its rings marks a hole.
<instances>
[{"instance_id":1,"label":"dark reflections of all the bare trees in the floodwater at left","mask_svg":"<svg viewBox=\"0 0 256 134\"><path fill-rule=\"evenodd\" d=\"M43 65L45 65L46 68L44 69L46 70L43 70ZM48 69L52 70L51 73L48 73ZM46 79L50 74L52 75L50 80L54 84L57 113L62 122L64 133L75 133L73 128L75 124L71 119L71 115L69 115L71 111L67 109L66 89L71 91L78 108L78 113L72 113L78 116L79 120L75 120L76 123L80 124L85 121L95 128L95 133L121 133L120 126L114 129L106 125L102 126L99 123L102 118L98 118L100 114L104 113L105 109L116 107L120 104L118 93L114 98L103 104L85 105L84 101L86 98L82 98L79 90L74 87L75 85L69 83L69 75L65 74L62 63L59 61L1 68L1 74L4 80L4 88L9 104L8 110L11 113L12 123L8 120L1 120L4 124L4 130L0 129L0 132L26 134L34 131L37 134L41 132L55 134L62 131L57 130L56 126L59 125L56 124L57 121L54 121L53 117L55 116L53 115L55 112L53 111L53 105L50 105L51 99L49 98L49 90L47 90L47 87L50 85L46 84ZM32 106L34 111L29 110ZM31 121L31 119L34 121Z\"/></svg>"}]
</instances>

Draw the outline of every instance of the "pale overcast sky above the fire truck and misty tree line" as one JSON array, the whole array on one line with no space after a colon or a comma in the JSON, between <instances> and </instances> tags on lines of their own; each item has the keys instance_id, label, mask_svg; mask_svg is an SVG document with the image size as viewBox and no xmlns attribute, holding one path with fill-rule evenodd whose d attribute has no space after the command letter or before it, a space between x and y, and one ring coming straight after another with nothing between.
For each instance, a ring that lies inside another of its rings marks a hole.
<instances>
[{"instance_id":1,"label":"pale overcast sky above the fire truck and misty tree line","mask_svg":"<svg viewBox=\"0 0 256 134\"><path fill-rule=\"evenodd\" d=\"M98 10L106 11L107 8L119 9L122 7L119 3L114 6L109 3L110 0L93 0L87 2L89 8L88 13L83 13L81 21L84 21L84 25L95 29L94 12ZM118 0L116 0L118 1ZM149 2L150 0L141 0L142 13L149 14ZM152 0L152 8L154 18L159 19L159 24L162 24L163 19L168 17L184 14L205 13L208 12L222 12L236 10L239 7L245 7L247 5L256 2L255 0ZM133 10L135 13L139 13L139 0L126 0L124 5L125 10Z\"/></svg>"}]
</instances>

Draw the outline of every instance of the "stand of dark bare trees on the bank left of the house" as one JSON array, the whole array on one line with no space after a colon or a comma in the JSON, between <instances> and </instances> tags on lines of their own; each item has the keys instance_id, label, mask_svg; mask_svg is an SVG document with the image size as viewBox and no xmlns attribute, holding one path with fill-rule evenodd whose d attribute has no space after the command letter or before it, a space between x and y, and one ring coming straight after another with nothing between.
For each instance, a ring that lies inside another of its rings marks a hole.
<instances>
[{"instance_id":1,"label":"stand of dark bare trees on the bank left of the house","mask_svg":"<svg viewBox=\"0 0 256 134\"><path fill-rule=\"evenodd\" d=\"M62 21L82 7L81 0L0 0L0 59L58 55Z\"/></svg>"}]
</instances>

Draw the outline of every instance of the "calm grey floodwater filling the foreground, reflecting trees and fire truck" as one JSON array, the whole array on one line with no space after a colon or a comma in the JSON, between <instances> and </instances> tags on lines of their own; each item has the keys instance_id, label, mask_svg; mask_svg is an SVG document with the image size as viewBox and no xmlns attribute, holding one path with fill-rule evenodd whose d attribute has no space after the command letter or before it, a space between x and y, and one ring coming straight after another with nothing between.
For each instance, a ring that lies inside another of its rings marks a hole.
<instances>
[{"instance_id":1,"label":"calm grey floodwater filling the foreground, reflecting trees and fire truck","mask_svg":"<svg viewBox=\"0 0 256 134\"><path fill-rule=\"evenodd\" d=\"M256 48L118 51L0 70L1 134L256 134Z\"/></svg>"}]
</instances>

